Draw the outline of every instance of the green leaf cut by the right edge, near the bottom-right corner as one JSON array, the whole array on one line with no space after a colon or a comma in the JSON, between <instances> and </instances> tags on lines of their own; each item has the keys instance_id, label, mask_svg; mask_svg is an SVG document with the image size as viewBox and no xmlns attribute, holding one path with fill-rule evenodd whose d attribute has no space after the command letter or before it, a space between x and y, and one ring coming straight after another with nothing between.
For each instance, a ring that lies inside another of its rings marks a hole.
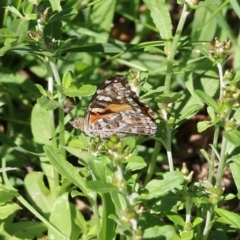
<instances>
[{"instance_id":1,"label":"green leaf cut by the right edge, near the bottom-right corner","mask_svg":"<svg viewBox=\"0 0 240 240\"><path fill-rule=\"evenodd\" d=\"M238 214L220 208L216 208L214 211L220 216L217 220L218 222L226 223L236 229L240 229L240 216Z\"/></svg>"}]
</instances>

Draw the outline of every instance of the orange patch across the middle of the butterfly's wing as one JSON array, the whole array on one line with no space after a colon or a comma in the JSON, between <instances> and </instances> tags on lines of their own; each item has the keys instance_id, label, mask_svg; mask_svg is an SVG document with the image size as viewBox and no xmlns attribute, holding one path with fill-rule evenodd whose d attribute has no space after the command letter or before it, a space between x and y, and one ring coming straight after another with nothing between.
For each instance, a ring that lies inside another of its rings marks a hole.
<instances>
[{"instance_id":1,"label":"orange patch across the middle of the butterfly's wing","mask_svg":"<svg viewBox=\"0 0 240 240\"><path fill-rule=\"evenodd\" d=\"M98 119L105 118L109 115L112 115L114 113L126 111L126 110L132 110L132 106L129 104L114 104L111 103L107 105L107 107L104 109L105 111L103 113L91 113L89 117L89 123L92 124L93 122L97 121Z\"/></svg>"}]
</instances>

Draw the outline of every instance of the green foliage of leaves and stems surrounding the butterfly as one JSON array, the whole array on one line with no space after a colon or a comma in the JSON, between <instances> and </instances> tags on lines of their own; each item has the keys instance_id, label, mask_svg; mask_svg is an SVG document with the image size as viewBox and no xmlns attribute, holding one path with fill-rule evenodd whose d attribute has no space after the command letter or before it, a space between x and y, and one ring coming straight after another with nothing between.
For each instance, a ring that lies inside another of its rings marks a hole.
<instances>
[{"instance_id":1,"label":"green foliage of leaves and stems surrounding the butterfly","mask_svg":"<svg viewBox=\"0 0 240 240\"><path fill-rule=\"evenodd\" d=\"M143 2L4 1L0 239L228 239L240 228L222 208L240 197L240 35L227 21L233 9L239 20L239 2L179 0L179 19L167 1ZM67 130L71 99L83 117L113 74L140 78L134 87L157 113L155 137ZM213 130L212 152L197 150L209 172L193 181L185 164L174 171L171 143L205 106L197 129ZM221 188L228 167L236 195Z\"/></svg>"}]
</instances>

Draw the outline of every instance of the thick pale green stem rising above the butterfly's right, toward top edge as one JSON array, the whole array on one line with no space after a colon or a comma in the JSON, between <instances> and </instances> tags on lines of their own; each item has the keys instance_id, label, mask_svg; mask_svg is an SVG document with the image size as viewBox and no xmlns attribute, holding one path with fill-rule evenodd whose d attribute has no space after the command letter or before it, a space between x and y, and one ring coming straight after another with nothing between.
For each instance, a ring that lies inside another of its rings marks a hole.
<instances>
[{"instance_id":1,"label":"thick pale green stem rising above the butterfly's right, toward top edge","mask_svg":"<svg viewBox=\"0 0 240 240\"><path fill-rule=\"evenodd\" d=\"M187 16L189 12L187 11L187 6L184 4L183 10L182 10L182 15L178 23L178 27L172 42L172 46L170 49L170 52L167 57L167 74L165 78L165 84L164 86L166 87L165 93L169 93L170 91L170 85L171 85L171 79L172 79L172 68L173 68L173 62L174 62L174 57L177 51L177 46L182 34L183 26L186 22Z\"/></svg>"}]
</instances>

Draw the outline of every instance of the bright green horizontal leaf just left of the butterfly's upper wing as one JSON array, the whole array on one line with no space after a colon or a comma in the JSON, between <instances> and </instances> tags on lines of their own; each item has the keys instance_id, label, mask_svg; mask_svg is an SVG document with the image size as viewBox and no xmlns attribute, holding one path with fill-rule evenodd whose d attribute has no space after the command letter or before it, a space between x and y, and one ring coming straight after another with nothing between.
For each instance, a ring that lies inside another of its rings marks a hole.
<instances>
[{"instance_id":1,"label":"bright green horizontal leaf just left of the butterfly's upper wing","mask_svg":"<svg viewBox=\"0 0 240 240\"><path fill-rule=\"evenodd\" d=\"M87 97L92 96L97 90L96 86L86 84L80 87L79 89L77 87L69 87L67 91L64 92L64 94L68 97Z\"/></svg>"}]
</instances>

